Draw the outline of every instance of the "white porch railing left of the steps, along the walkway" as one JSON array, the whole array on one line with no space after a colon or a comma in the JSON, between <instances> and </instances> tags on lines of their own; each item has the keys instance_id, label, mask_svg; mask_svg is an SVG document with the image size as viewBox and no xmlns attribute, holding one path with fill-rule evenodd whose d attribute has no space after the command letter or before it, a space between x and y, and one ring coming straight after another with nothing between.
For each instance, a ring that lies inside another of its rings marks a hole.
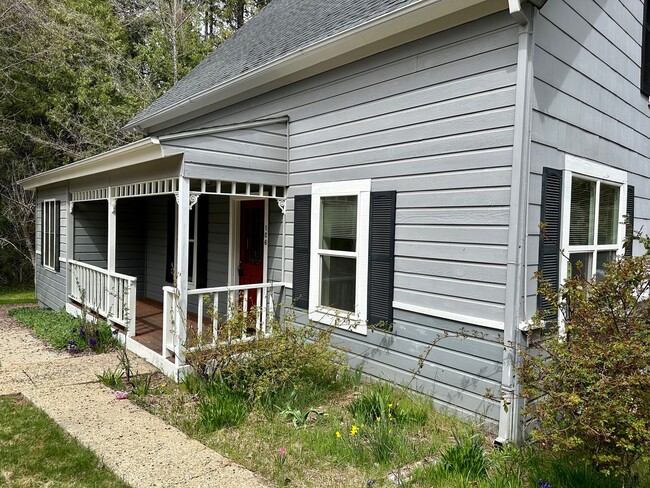
<instances>
[{"instance_id":1,"label":"white porch railing left of the steps, along the walkway","mask_svg":"<svg viewBox=\"0 0 650 488\"><path fill-rule=\"evenodd\" d=\"M135 335L137 279L80 261L68 260L70 298Z\"/></svg>"}]
</instances>

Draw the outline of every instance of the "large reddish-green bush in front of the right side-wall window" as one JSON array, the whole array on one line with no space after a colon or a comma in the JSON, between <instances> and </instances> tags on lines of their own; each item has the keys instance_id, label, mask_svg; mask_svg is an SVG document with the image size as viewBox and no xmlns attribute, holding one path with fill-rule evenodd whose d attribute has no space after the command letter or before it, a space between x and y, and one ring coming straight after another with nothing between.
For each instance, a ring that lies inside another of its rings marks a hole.
<instances>
[{"instance_id":1,"label":"large reddish-green bush in front of the right side-wall window","mask_svg":"<svg viewBox=\"0 0 650 488\"><path fill-rule=\"evenodd\" d=\"M559 294L540 288L565 334L555 327L523 353L533 437L626 478L650 453L650 257L614 261L599 282L575 276Z\"/></svg>"}]
</instances>

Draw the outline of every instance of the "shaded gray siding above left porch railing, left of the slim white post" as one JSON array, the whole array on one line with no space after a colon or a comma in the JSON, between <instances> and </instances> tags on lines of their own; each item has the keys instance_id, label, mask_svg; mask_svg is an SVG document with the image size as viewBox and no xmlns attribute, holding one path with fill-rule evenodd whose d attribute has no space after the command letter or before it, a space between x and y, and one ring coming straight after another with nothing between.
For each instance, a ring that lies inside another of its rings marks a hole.
<instances>
[{"instance_id":1,"label":"shaded gray siding above left porch railing, left of the slim white post","mask_svg":"<svg viewBox=\"0 0 650 488\"><path fill-rule=\"evenodd\" d=\"M77 202L73 215L74 259L107 269L108 202Z\"/></svg>"}]
</instances>

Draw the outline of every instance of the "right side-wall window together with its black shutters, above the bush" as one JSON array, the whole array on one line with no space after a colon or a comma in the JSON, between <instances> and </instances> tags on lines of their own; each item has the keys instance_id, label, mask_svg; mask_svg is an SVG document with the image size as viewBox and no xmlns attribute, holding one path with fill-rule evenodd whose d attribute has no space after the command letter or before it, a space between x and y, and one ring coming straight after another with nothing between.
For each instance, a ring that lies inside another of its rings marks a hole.
<instances>
[{"instance_id":1,"label":"right side-wall window together with its black shutters, above the bush","mask_svg":"<svg viewBox=\"0 0 650 488\"><path fill-rule=\"evenodd\" d=\"M544 168L541 203L539 270L553 290L577 273L599 280L607 262L631 255L634 187L626 172L567 155L563 169ZM542 294L537 308L552 318Z\"/></svg>"}]
</instances>

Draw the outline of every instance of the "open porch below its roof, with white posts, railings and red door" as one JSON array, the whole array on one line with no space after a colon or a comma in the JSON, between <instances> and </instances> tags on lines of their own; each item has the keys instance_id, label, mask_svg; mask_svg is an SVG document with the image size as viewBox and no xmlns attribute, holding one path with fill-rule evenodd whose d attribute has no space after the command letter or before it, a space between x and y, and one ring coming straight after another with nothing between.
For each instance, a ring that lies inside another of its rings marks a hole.
<instances>
[{"instance_id":1,"label":"open porch below its roof, with white posts, railings and red door","mask_svg":"<svg viewBox=\"0 0 650 488\"><path fill-rule=\"evenodd\" d=\"M284 292L284 197L183 177L72 192L70 309L105 318L172 376L188 336L216 337L234 313L266 333Z\"/></svg>"}]
</instances>

